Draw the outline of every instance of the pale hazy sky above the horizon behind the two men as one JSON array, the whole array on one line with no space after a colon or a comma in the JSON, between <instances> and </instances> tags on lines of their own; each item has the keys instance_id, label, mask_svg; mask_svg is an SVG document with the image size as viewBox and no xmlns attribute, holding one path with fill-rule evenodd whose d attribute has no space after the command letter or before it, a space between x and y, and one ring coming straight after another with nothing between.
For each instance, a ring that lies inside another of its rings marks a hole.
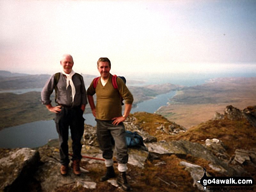
<instances>
[{"instance_id":1,"label":"pale hazy sky above the horizon behind the two men","mask_svg":"<svg viewBox=\"0 0 256 192\"><path fill-rule=\"evenodd\" d=\"M0 70L256 72L256 0L0 0Z\"/></svg>"}]
</instances>

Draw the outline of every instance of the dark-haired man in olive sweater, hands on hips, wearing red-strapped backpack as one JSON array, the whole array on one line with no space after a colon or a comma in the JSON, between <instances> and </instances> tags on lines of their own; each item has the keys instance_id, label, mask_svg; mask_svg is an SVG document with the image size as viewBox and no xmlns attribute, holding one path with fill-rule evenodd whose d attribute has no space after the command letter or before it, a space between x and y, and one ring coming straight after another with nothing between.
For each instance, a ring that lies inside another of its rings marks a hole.
<instances>
[{"instance_id":1,"label":"dark-haired man in olive sweater, hands on hips, wearing red-strapped backpack","mask_svg":"<svg viewBox=\"0 0 256 192\"><path fill-rule=\"evenodd\" d=\"M100 73L96 87L92 81L87 90L87 97L92 109L92 114L97 122L97 139L102 150L102 157L105 158L106 175L101 181L106 181L115 177L113 168L113 145L111 139L115 141L117 151L117 161L119 176L117 183L122 189L129 191L130 185L126 179L128 162L128 150L125 141L125 128L123 121L130 114L133 103L133 95L130 93L123 80L116 78L117 88L113 87L113 75L109 73L111 63L108 58L101 57L97 62ZM94 104L93 95L96 94L97 103ZM122 115L121 97L125 100L124 114Z\"/></svg>"}]
</instances>

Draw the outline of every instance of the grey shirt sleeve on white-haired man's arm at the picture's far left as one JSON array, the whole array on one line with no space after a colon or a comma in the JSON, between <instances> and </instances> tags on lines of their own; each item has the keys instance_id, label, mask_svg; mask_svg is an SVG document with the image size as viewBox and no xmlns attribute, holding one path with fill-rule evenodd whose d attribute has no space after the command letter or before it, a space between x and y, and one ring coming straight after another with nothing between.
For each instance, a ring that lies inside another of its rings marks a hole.
<instances>
[{"instance_id":1,"label":"grey shirt sleeve on white-haired man's arm at the picture's far left","mask_svg":"<svg viewBox=\"0 0 256 192\"><path fill-rule=\"evenodd\" d=\"M51 104L50 96L54 90L54 75L48 79L45 83L43 90L41 91L41 102L42 104Z\"/></svg>"}]
</instances>

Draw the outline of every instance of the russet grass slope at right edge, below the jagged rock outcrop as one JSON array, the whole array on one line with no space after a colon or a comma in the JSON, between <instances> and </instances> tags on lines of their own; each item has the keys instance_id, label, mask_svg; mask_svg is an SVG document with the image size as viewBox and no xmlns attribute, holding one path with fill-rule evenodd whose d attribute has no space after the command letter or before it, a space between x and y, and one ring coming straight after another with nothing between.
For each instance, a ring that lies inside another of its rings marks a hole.
<instances>
[{"instance_id":1,"label":"russet grass slope at right edge, below the jagged rock outcrop","mask_svg":"<svg viewBox=\"0 0 256 192\"><path fill-rule=\"evenodd\" d=\"M246 120L210 120L190 128L187 132L170 136L171 140L188 140L205 144L206 139L217 138L227 146L227 153L232 155L236 149L250 149L256 146L255 128Z\"/></svg>"}]
</instances>

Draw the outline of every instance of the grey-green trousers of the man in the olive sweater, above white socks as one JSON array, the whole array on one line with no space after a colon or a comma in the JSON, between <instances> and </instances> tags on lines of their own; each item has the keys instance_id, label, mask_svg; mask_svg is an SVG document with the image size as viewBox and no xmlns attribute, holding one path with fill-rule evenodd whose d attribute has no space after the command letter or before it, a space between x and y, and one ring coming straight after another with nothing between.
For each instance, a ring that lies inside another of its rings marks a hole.
<instances>
[{"instance_id":1,"label":"grey-green trousers of the man in the olive sweater, above white socks","mask_svg":"<svg viewBox=\"0 0 256 192\"><path fill-rule=\"evenodd\" d=\"M102 157L105 159L113 158L113 140L117 151L117 162L126 164L128 162L128 149L125 141L125 128L123 122L119 125L112 125L113 121L102 121L95 119L97 122L97 139L99 147L102 150Z\"/></svg>"}]
</instances>

